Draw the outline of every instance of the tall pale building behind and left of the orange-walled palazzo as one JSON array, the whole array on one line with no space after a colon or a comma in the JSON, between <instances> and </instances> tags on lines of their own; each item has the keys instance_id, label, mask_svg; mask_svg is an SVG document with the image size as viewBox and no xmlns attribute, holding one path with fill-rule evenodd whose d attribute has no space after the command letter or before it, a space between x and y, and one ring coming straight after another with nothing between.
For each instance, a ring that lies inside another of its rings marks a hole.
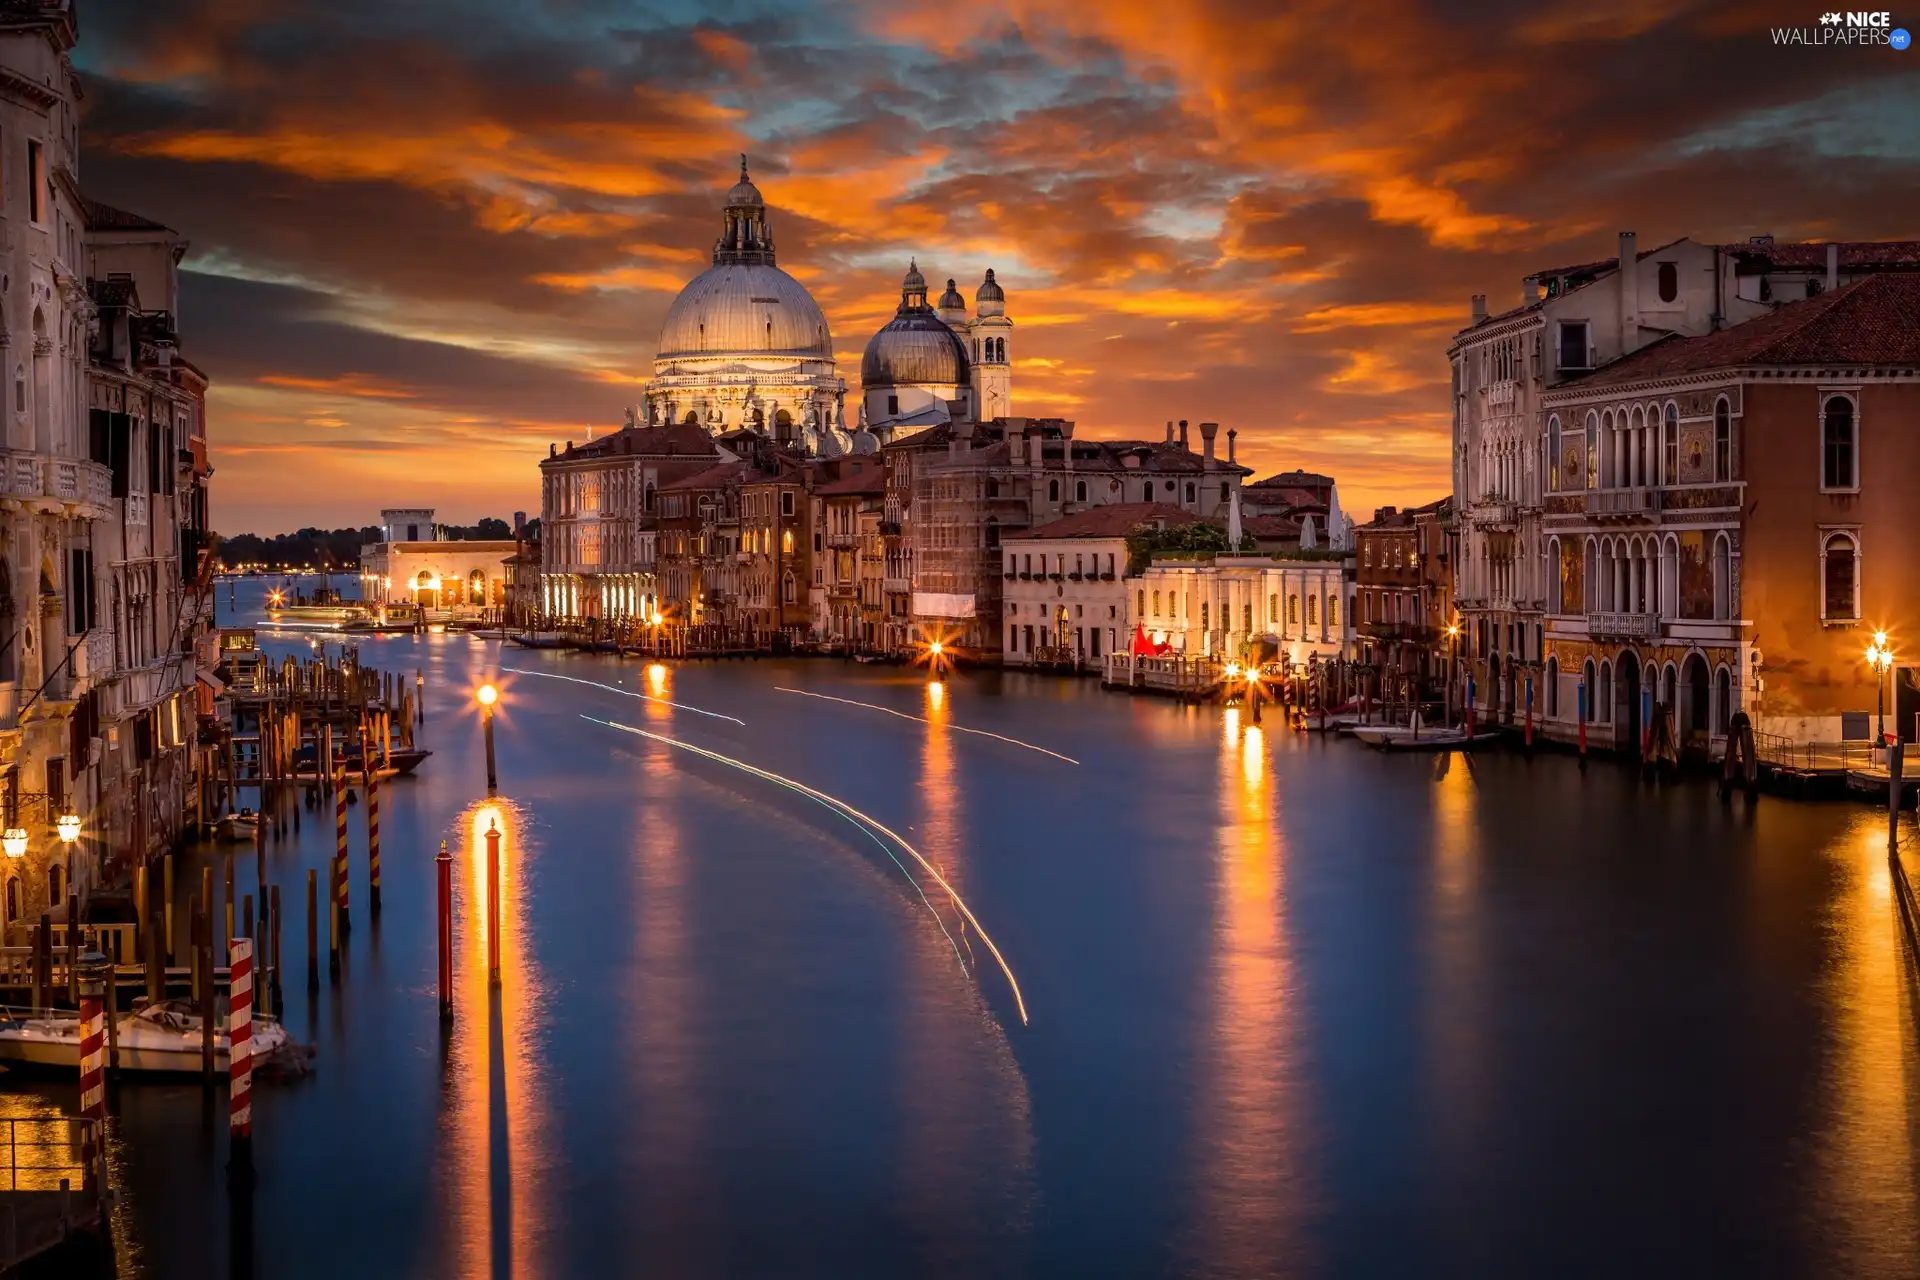
<instances>
[{"instance_id":1,"label":"tall pale building behind and left of the orange-walled palazzo","mask_svg":"<svg viewBox=\"0 0 1920 1280\"><path fill-rule=\"evenodd\" d=\"M1448 359L1455 604L1482 706L1511 718L1544 664L1553 580L1542 541L1542 397L1649 342L1711 334L1786 301L1916 267L1916 242L1811 246L1755 236L1715 246L1682 238L1640 249L1638 236L1622 232L1615 257L1526 276L1523 303L1511 311L1488 315L1486 296L1473 297L1473 322L1455 334ZM1597 476L1597 459L1590 466Z\"/></svg>"}]
</instances>

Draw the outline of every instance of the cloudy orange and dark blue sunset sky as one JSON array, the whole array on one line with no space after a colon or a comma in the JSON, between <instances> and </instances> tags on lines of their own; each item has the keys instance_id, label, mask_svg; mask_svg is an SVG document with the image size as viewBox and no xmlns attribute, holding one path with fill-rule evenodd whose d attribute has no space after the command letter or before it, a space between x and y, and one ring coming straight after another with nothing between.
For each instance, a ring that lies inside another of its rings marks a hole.
<instances>
[{"instance_id":1,"label":"cloudy orange and dark blue sunset sky","mask_svg":"<svg viewBox=\"0 0 1920 1280\"><path fill-rule=\"evenodd\" d=\"M223 533L538 514L618 426L739 154L841 370L910 255L1008 292L1014 403L1448 489L1469 296L1644 246L1920 236L1920 52L1597 0L84 0L81 180L192 240ZM1920 19L1916 13L1893 17ZM1920 27L1920 21L1907 21ZM851 388L852 390L852 388Z\"/></svg>"}]
</instances>

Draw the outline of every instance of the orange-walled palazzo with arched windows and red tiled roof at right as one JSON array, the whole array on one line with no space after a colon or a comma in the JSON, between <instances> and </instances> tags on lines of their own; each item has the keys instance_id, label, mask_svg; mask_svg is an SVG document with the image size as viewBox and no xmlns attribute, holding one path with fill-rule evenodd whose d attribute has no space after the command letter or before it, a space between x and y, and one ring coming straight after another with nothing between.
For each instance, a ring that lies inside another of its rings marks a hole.
<instances>
[{"instance_id":1,"label":"orange-walled palazzo with arched windows and red tiled roof at right","mask_svg":"<svg viewBox=\"0 0 1920 1280\"><path fill-rule=\"evenodd\" d=\"M1884 695L1912 741L1916 367L1920 274L1862 274L1548 391L1549 731L1572 735L1584 687L1590 737L1624 750L1653 702L1699 754L1738 710L1789 743L1864 741Z\"/></svg>"}]
</instances>

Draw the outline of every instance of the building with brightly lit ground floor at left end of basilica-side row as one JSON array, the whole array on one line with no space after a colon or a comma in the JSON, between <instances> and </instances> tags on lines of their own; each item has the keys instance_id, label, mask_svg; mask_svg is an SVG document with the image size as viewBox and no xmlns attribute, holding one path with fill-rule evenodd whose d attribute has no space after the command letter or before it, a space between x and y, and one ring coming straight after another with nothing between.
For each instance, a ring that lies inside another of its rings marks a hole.
<instances>
[{"instance_id":1,"label":"building with brightly lit ground floor at left end of basilica-side row","mask_svg":"<svg viewBox=\"0 0 1920 1280\"><path fill-rule=\"evenodd\" d=\"M662 595L660 489L733 457L699 424L645 426L634 413L618 432L549 447L540 462L541 612L651 616Z\"/></svg>"}]
</instances>

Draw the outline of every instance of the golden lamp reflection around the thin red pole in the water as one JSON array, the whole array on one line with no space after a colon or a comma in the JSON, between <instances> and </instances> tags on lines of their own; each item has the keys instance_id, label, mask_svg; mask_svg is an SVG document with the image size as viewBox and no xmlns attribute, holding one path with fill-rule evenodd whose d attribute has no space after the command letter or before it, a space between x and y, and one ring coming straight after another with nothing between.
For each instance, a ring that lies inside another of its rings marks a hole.
<instances>
[{"instance_id":1,"label":"golden lamp reflection around the thin red pole in the water","mask_svg":"<svg viewBox=\"0 0 1920 1280\"><path fill-rule=\"evenodd\" d=\"M447 1040L440 1182L444 1257L463 1280L541 1276L551 1151L536 1046L541 975L528 938L522 814L509 800L470 804L453 873L453 1027ZM488 984L488 846L499 841L499 990Z\"/></svg>"}]
</instances>

